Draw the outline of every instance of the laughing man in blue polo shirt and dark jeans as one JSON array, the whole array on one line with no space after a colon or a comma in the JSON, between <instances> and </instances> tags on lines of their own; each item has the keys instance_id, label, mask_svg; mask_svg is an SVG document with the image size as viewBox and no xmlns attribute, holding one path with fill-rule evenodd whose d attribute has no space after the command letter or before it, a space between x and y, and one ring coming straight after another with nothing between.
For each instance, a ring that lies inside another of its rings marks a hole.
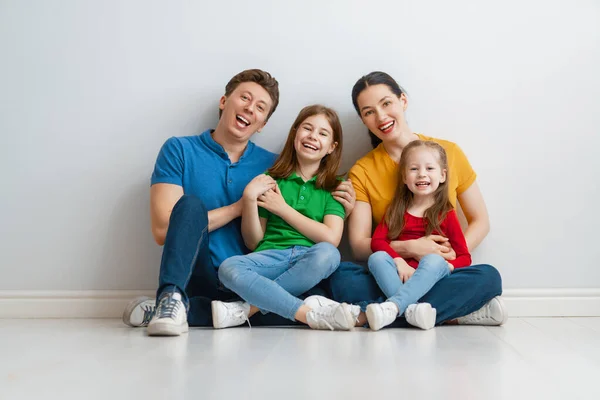
<instances>
[{"instance_id":1,"label":"laughing man in blue polo shirt and dark jeans","mask_svg":"<svg viewBox=\"0 0 600 400\"><path fill-rule=\"evenodd\" d=\"M158 155L150 189L152 233L164 245L155 301L134 299L123 313L149 335L177 336L192 326L212 326L211 301L237 296L217 278L226 258L248 252L241 236L242 193L276 155L250 142L279 103L278 82L258 69L242 71L225 87L214 130L168 139ZM351 211L350 183L334 197ZM289 324L256 315L258 324Z\"/></svg>"}]
</instances>

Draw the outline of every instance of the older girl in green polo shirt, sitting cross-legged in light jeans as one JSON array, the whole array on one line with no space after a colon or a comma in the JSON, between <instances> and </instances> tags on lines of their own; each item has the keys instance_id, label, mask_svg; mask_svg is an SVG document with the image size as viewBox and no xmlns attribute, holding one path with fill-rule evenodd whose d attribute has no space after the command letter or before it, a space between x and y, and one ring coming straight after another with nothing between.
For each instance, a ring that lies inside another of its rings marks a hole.
<instances>
[{"instance_id":1,"label":"older girl in green polo shirt, sitting cross-legged in light jeans","mask_svg":"<svg viewBox=\"0 0 600 400\"><path fill-rule=\"evenodd\" d=\"M340 263L337 246L345 212L331 191L339 183L341 153L342 127L335 111L321 105L302 109L273 167L244 190L242 236L254 252L225 260L219 279L246 302L213 301L215 328L241 325L259 310L313 329L354 326L357 306L312 309L296 297Z\"/></svg>"}]
</instances>

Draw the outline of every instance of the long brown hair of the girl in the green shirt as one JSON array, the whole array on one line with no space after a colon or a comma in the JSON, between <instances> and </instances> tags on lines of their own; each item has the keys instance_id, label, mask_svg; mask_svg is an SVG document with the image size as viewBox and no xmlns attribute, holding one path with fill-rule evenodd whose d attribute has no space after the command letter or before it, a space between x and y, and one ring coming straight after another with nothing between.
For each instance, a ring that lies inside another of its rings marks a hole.
<instances>
[{"instance_id":1,"label":"long brown hair of the girl in the green shirt","mask_svg":"<svg viewBox=\"0 0 600 400\"><path fill-rule=\"evenodd\" d=\"M327 118L327 121L333 130L333 142L337 142L337 146L333 149L333 152L321 159L321 165L317 171L317 188L331 192L339 184L337 170L340 167L340 161L342 159L342 124L340 123L337 113L333 109L320 104L304 107L300 111L290 128L290 133L288 134L288 138L283 146L281 154L279 154L275 164L273 164L268 172L273 178L280 179L289 177L292 172L296 170L298 167L298 158L296 156L296 149L294 148L296 132L302 122L313 115L324 115L325 118Z\"/></svg>"}]
</instances>

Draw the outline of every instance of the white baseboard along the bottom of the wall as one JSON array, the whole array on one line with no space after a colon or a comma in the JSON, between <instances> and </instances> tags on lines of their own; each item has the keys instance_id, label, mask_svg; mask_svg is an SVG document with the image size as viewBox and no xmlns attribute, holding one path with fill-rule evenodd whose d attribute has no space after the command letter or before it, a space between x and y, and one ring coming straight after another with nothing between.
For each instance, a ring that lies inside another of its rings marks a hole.
<instances>
[{"instance_id":1,"label":"white baseboard along the bottom of the wall","mask_svg":"<svg viewBox=\"0 0 600 400\"><path fill-rule=\"evenodd\" d=\"M151 290L0 290L0 318L120 318L137 296ZM600 317L600 288L507 289L511 317Z\"/></svg>"}]
</instances>

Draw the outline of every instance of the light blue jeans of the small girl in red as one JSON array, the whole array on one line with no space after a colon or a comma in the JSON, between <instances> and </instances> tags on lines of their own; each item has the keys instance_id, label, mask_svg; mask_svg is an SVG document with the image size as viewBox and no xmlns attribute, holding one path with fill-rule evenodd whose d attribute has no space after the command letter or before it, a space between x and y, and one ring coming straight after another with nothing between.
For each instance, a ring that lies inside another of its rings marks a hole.
<instances>
[{"instance_id":1,"label":"light blue jeans of the small girl in red","mask_svg":"<svg viewBox=\"0 0 600 400\"><path fill-rule=\"evenodd\" d=\"M404 314L409 305L415 304L429 292L439 280L450 275L448 263L437 254L421 258L419 267L405 283L400 280L394 259L385 251L371 254L368 266L377 285L388 298L387 301L398 306L399 316Z\"/></svg>"}]
</instances>

